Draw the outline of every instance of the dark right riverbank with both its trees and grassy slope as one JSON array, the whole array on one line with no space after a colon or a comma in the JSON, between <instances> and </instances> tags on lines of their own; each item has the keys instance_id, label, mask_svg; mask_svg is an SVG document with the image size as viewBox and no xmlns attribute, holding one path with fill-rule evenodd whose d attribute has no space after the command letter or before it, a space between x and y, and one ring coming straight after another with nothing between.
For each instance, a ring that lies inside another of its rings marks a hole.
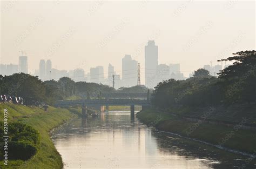
<instances>
[{"instance_id":1,"label":"dark right riverbank with both its trees and grassy slope","mask_svg":"<svg viewBox=\"0 0 256 169\"><path fill-rule=\"evenodd\" d=\"M169 79L154 87L151 109L137 117L157 129L256 155L256 52L241 51L234 63L210 76L205 69L186 80ZM159 118L160 117L160 118ZM185 120L193 117L199 121ZM156 120L158 119L158 120ZM221 124L204 123L219 120ZM225 123L234 125L227 126Z\"/></svg>"}]
</instances>

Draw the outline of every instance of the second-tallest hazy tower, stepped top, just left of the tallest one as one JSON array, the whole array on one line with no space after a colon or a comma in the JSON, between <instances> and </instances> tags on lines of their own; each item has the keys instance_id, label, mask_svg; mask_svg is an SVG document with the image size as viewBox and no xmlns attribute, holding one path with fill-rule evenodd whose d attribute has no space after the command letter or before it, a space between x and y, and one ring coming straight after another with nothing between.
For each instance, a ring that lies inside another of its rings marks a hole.
<instances>
[{"instance_id":1,"label":"second-tallest hazy tower, stepped top, just left of the tallest one","mask_svg":"<svg viewBox=\"0 0 256 169\"><path fill-rule=\"evenodd\" d=\"M122 59L122 83L124 87L137 85L138 62L132 60L131 55L125 55Z\"/></svg>"}]
</instances>

